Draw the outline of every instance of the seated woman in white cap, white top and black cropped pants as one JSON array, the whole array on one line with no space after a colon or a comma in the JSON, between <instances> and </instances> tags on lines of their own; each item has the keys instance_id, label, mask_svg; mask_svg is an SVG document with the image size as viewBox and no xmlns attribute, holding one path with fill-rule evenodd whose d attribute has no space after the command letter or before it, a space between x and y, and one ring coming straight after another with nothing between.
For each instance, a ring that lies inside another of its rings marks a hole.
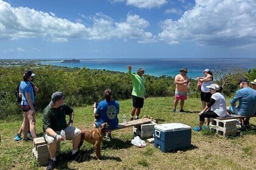
<instances>
[{"instance_id":1,"label":"seated woman in white cap, white top and black cropped pants","mask_svg":"<svg viewBox=\"0 0 256 170\"><path fill-rule=\"evenodd\" d=\"M212 97L207 106L202 110L199 115L199 126L194 127L194 131L201 131L202 129L209 129L210 121L207 121L206 126L203 126L205 118L216 118L216 117L226 117L226 100L223 94L221 94L222 87L218 84L211 84L207 86L210 89Z\"/></svg>"}]
</instances>

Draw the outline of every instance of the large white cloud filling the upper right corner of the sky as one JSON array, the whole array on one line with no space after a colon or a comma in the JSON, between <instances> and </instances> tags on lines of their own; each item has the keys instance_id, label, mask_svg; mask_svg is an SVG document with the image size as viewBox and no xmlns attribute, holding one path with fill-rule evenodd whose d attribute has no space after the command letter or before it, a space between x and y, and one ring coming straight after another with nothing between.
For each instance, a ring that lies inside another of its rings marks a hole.
<instances>
[{"instance_id":1,"label":"large white cloud filling the upper right corner of the sky","mask_svg":"<svg viewBox=\"0 0 256 170\"><path fill-rule=\"evenodd\" d=\"M256 1L196 0L178 21L160 22L158 38L169 44L196 41L200 45L239 47L256 43Z\"/></svg>"}]
</instances>

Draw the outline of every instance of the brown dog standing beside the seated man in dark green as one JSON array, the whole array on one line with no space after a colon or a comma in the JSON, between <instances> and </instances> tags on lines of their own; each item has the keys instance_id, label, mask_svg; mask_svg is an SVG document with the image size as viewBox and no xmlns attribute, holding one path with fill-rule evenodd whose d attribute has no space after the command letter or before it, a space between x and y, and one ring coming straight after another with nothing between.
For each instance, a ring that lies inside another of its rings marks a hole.
<instances>
[{"instance_id":1,"label":"brown dog standing beside the seated man in dark green","mask_svg":"<svg viewBox=\"0 0 256 170\"><path fill-rule=\"evenodd\" d=\"M93 144L95 152L96 152L96 158L98 160L101 159L101 142L103 137L108 133L107 129L109 128L109 125L107 123L102 123L101 126L97 129L82 129L82 136L81 140L78 146L78 149L82 146L82 144L85 141L88 141L88 143Z\"/></svg>"}]
</instances>

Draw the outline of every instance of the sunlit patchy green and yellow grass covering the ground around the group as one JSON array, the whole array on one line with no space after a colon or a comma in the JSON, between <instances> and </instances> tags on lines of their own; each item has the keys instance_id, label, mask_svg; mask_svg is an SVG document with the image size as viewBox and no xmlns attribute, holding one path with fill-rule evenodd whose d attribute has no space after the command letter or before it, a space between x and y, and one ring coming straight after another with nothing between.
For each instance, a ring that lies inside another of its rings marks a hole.
<instances>
[{"instance_id":1,"label":"sunlit patchy green and yellow grass covering the ground around the group","mask_svg":"<svg viewBox=\"0 0 256 170\"><path fill-rule=\"evenodd\" d=\"M132 100L119 101L120 114L129 118ZM201 101L188 98L185 101L186 113L171 113L173 98L147 98L141 117L150 115L157 118L158 123L179 122L191 127L197 126L201 110ZM93 106L77 107L74 126L80 129L91 128L93 124ZM179 110L179 105L177 110ZM32 158L32 141L15 141L23 121L22 115L0 120L0 169L45 169L38 166ZM256 124L256 118L251 119ZM42 136L41 113L37 113L37 135ZM80 152L80 163L70 161L71 141L61 143L60 165L58 169L256 169L256 130L254 126L249 132L237 137L220 137L213 133L192 131L191 147L182 151L164 153L147 143L144 148L130 144L133 138L132 127L114 131L112 141L102 143L102 161L99 163L93 146L84 143Z\"/></svg>"}]
</instances>

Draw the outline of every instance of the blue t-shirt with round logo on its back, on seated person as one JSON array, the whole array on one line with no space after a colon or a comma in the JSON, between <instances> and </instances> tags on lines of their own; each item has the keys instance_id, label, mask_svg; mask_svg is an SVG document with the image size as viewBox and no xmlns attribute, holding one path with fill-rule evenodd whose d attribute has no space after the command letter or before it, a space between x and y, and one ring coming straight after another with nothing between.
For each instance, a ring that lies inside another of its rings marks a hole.
<instances>
[{"instance_id":1,"label":"blue t-shirt with round logo on its back, on seated person","mask_svg":"<svg viewBox=\"0 0 256 170\"><path fill-rule=\"evenodd\" d=\"M111 129L118 127L118 117L119 114L119 103L115 100L106 101L103 100L99 103L96 114L100 115L99 120L96 120L97 124L99 123L108 123Z\"/></svg>"}]
</instances>

